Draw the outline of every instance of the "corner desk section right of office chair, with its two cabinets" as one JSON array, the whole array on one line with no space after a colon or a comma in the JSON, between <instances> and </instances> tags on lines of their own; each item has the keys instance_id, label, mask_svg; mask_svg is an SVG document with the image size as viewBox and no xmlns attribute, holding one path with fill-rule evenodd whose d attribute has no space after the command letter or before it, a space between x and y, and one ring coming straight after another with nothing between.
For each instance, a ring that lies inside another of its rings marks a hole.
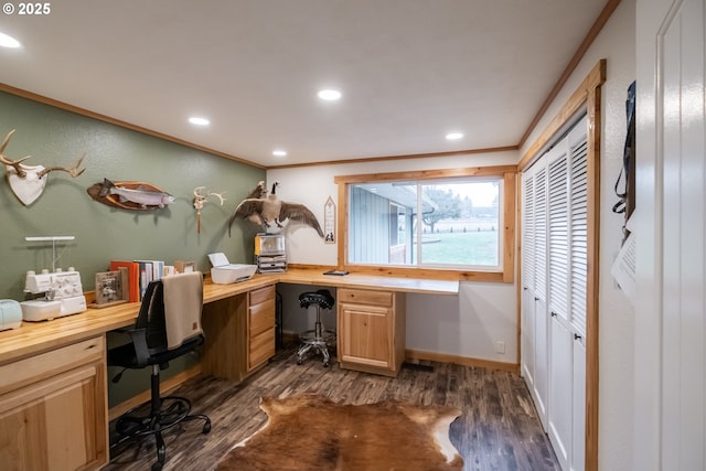
<instances>
[{"instance_id":1,"label":"corner desk section right of office chair, with its two cabinets","mask_svg":"<svg viewBox=\"0 0 706 471\"><path fill-rule=\"evenodd\" d=\"M206 285L204 373L242 381L275 354L275 283L338 289L338 360L342 367L389 376L405 360L405 292L458 295L458 281L421 280L318 269L256 275L244 283ZM240 286L243 285L243 286ZM237 291L247 290L239 296Z\"/></svg>"}]
</instances>

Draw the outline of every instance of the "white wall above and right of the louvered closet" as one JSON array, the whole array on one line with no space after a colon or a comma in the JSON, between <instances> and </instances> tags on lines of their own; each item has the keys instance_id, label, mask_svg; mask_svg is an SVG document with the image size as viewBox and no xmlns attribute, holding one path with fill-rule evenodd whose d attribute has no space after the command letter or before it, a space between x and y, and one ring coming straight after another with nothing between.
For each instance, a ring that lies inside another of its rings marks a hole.
<instances>
[{"instance_id":1,"label":"white wall above and right of the louvered closet","mask_svg":"<svg viewBox=\"0 0 706 471\"><path fill-rule=\"evenodd\" d=\"M610 266L622 239L622 215L613 214L611 206L617 201L613 185L622 165L625 95L635 78L634 22L635 0L622 0L525 146L532 144L598 61L607 58L607 81L601 88L600 169L598 449L601 470L632 468L634 309L614 285Z\"/></svg>"}]
</instances>

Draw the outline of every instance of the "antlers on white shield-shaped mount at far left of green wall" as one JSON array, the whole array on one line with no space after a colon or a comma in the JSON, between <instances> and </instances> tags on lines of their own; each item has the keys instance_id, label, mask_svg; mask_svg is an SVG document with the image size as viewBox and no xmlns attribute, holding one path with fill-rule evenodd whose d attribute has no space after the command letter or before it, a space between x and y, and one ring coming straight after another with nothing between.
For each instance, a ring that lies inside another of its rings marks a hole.
<instances>
[{"instance_id":1,"label":"antlers on white shield-shaped mount at far left of green wall","mask_svg":"<svg viewBox=\"0 0 706 471\"><path fill-rule=\"evenodd\" d=\"M81 162L83 162L84 158L82 157L76 161L74 167L49 167L45 168L43 165L26 165L24 162L31 156L23 157L19 160L10 160L4 157L4 148L10 142L10 138L14 133L14 129L8 132L8 136L4 137L2 144L0 144L0 163L4 164L6 169L6 179L10 184L10 189L12 193L24 204L29 206L34 203L38 197L44 191L44 186L46 186L46 181L49 178L46 176L50 172L54 170L61 170L62 172L67 172L72 176L81 175L84 169L78 169L81 167Z\"/></svg>"}]
</instances>

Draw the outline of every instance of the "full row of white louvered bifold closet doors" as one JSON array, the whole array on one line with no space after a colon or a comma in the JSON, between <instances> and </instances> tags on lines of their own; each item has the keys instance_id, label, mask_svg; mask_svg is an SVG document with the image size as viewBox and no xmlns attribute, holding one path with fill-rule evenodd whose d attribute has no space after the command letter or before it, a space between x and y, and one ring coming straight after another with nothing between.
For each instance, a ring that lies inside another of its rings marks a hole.
<instances>
[{"instance_id":1,"label":"full row of white louvered bifold closet doors","mask_svg":"<svg viewBox=\"0 0 706 471\"><path fill-rule=\"evenodd\" d=\"M523 173L523 375L561 468L577 471L585 457L586 126L584 117Z\"/></svg>"}]
</instances>

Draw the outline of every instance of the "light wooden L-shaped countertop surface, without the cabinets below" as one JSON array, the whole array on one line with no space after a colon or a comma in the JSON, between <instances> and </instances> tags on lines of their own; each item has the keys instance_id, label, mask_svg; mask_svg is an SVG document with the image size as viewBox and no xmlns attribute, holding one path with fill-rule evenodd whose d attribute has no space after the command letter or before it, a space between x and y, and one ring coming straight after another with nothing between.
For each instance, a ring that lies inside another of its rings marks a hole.
<instances>
[{"instance_id":1,"label":"light wooden L-shaped countertop surface, without the cabinets below","mask_svg":"<svg viewBox=\"0 0 706 471\"><path fill-rule=\"evenodd\" d=\"M208 279L204 283L203 302L205 304L277 282L432 295L459 292L458 281L356 274L330 276L323 275L322 270L295 268L284 274L255 275L247 281L232 285L215 285ZM19 329L0 332L0 364L132 325L139 309L139 302L130 302L104 309L88 309L52 321L22 322Z\"/></svg>"}]
</instances>

